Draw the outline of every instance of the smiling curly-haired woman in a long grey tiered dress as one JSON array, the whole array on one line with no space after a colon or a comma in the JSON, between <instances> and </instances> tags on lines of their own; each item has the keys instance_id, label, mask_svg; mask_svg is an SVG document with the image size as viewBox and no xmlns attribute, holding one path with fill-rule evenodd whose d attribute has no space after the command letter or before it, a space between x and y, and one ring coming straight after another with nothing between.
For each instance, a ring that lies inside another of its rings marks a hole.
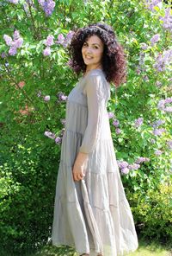
<instances>
[{"instance_id":1,"label":"smiling curly-haired woman in a long grey tiered dress","mask_svg":"<svg viewBox=\"0 0 172 256\"><path fill-rule=\"evenodd\" d=\"M126 80L123 48L114 30L98 22L77 29L71 67L83 73L68 95L52 225L52 245L79 255L135 251L138 237L116 162L107 101L110 82Z\"/></svg>"}]
</instances>

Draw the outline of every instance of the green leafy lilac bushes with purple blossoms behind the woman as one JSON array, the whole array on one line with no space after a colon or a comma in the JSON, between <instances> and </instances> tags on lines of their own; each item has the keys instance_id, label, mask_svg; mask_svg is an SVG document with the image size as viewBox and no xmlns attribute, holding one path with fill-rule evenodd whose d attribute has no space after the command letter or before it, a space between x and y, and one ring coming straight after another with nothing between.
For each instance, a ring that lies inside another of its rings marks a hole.
<instances>
[{"instance_id":1,"label":"green leafy lilac bushes with purple blossoms behind the woman","mask_svg":"<svg viewBox=\"0 0 172 256\"><path fill-rule=\"evenodd\" d=\"M0 8L2 248L24 255L51 236L66 96L78 79L67 64L67 44L74 29L100 21L114 27L127 55L127 82L117 90L111 86L107 107L137 231L146 238L170 241L169 4L3 0ZM15 53L4 35L15 41L16 30L22 39ZM48 47L47 36L52 35Z\"/></svg>"}]
</instances>

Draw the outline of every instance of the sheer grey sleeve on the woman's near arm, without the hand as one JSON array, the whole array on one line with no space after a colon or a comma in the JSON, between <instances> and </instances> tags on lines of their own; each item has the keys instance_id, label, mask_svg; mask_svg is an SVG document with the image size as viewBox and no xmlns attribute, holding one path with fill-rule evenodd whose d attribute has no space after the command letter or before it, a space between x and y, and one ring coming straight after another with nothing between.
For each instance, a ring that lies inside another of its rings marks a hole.
<instances>
[{"instance_id":1,"label":"sheer grey sleeve on the woman's near arm, without the hand","mask_svg":"<svg viewBox=\"0 0 172 256\"><path fill-rule=\"evenodd\" d=\"M83 134L80 152L89 153L95 148L101 131L101 122L105 109L106 95L103 80L100 75L90 75L85 84L85 93L88 103L88 123Z\"/></svg>"}]
</instances>

